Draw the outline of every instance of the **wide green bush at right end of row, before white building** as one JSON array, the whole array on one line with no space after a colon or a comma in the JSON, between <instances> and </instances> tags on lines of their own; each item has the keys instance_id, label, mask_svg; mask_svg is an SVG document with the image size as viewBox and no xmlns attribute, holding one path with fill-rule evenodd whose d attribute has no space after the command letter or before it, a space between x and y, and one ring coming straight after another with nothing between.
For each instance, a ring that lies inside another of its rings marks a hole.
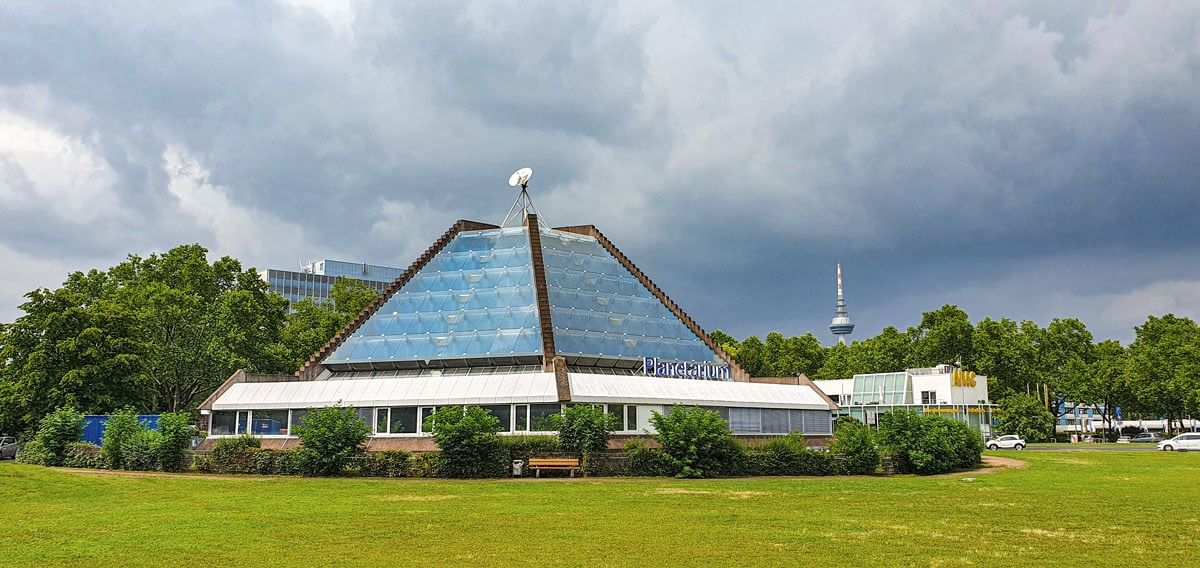
<instances>
[{"instance_id":1,"label":"wide green bush at right end of row, before white building","mask_svg":"<svg viewBox=\"0 0 1200 568\"><path fill-rule=\"evenodd\" d=\"M880 415L880 443L898 472L923 476L974 467L983 453L979 434L966 424L902 409Z\"/></svg>"}]
</instances>

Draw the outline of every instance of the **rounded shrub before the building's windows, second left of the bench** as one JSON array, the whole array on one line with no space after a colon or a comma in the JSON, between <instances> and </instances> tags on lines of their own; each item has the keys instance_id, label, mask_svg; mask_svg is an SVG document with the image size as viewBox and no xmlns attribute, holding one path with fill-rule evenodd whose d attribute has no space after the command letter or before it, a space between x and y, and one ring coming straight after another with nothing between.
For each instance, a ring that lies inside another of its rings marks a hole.
<instances>
[{"instance_id":1,"label":"rounded shrub before the building's windows, second left of the bench","mask_svg":"<svg viewBox=\"0 0 1200 568\"><path fill-rule=\"evenodd\" d=\"M311 454L304 459L304 474L336 476L352 458L362 455L370 429L354 408L326 406L310 408L295 435Z\"/></svg>"}]
</instances>

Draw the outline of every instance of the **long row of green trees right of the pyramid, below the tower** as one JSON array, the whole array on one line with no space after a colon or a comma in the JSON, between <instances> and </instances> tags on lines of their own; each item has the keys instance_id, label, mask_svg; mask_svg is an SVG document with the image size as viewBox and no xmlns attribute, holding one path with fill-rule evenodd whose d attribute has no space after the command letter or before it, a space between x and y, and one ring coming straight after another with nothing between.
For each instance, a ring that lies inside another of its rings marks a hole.
<instances>
[{"instance_id":1,"label":"long row of green trees right of the pyramid, below the tower","mask_svg":"<svg viewBox=\"0 0 1200 568\"><path fill-rule=\"evenodd\" d=\"M920 323L905 331L888 327L848 346L823 347L811 333L785 337L772 331L766 341L738 341L716 330L712 337L760 377L804 373L834 379L959 363L989 377L992 401L1013 408L1049 407L1049 429L1063 401L1120 406L1124 419L1200 414L1200 327L1165 315L1151 316L1134 330L1133 343L1122 346L1094 341L1087 325L1074 318L1046 327L990 317L971 323L965 311L946 305L923 313Z\"/></svg>"}]
</instances>

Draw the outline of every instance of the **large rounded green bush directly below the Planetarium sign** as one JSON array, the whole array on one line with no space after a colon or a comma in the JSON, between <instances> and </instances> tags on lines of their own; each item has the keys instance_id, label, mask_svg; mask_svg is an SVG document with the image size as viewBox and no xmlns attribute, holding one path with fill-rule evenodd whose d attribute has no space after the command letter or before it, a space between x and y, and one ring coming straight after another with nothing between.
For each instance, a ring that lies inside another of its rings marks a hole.
<instances>
[{"instance_id":1,"label":"large rounded green bush directly below the Planetarium sign","mask_svg":"<svg viewBox=\"0 0 1200 568\"><path fill-rule=\"evenodd\" d=\"M737 468L740 447L720 414L676 405L667 414L650 417L654 440L674 466L676 477L719 477Z\"/></svg>"}]
</instances>

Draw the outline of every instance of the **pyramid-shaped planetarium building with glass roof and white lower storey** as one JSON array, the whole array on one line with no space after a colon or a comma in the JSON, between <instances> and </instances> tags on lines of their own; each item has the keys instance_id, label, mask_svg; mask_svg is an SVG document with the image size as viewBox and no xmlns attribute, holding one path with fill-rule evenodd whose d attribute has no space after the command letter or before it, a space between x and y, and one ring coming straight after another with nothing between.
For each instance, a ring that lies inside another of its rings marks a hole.
<instances>
[{"instance_id":1,"label":"pyramid-shaped planetarium building with glass roof and white lower storey","mask_svg":"<svg viewBox=\"0 0 1200 568\"><path fill-rule=\"evenodd\" d=\"M618 435L673 405L737 435L828 436L836 406L803 377L750 378L593 226L551 228L522 190L499 226L458 221L294 376L238 372L200 406L209 441L288 447L307 408L358 409L368 448L433 449L424 418L474 405L508 434L602 405Z\"/></svg>"}]
</instances>

